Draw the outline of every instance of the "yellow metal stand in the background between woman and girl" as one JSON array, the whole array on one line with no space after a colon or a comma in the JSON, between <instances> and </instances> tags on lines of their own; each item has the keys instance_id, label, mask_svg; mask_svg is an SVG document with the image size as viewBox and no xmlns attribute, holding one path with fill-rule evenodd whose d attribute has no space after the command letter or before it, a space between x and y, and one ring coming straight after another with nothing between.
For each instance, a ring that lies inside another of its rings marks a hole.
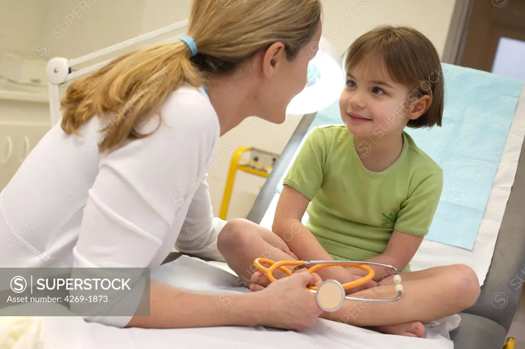
<instances>
[{"instance_id":1,"label":"yellow metal stand in the background between woman and girl","mask_svg":"<svg viewBox=\"0 0 525 349\"><path fill-rule=\"evenodd\" d=\"M255 176L268 178L271 170L273 169L273 165L269 166L265 163L254 160L244 160L243 162L241 162L243 155L248 151L270 156L274 160L278 157L278 155L276 154L272 154L271 152L253 147L240 147L235 149L235 152L232 156L232 161L230 162L228 178L226 180L226 187L224 188L223 202L220 205L219 218L222 220L226 220L226 216L228 214L228 207L230 199L232 198L233 184L235 182L235 175L237 174L237 171L240 170L246 173L255 174ZM253 158L253 156L250 157L250 159Z\"/></svg>"}]
</instances>

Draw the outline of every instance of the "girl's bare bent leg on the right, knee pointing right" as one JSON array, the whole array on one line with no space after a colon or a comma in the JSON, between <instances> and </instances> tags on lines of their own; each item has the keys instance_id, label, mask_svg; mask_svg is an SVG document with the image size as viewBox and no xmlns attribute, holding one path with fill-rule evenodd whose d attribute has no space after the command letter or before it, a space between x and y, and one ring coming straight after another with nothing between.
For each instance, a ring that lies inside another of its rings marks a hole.
<instances>
[{"instance_id":1,"label":"girl's bare bent leg on the right, knee pointing right","mask_svg":"<svg viewBox=\"0 0 525 349\"><path fill-rule=\"evenodd\" d=\"M432 322L463 311L476 302L480 287L475 272L465 265L429 268L400 273L403 295L387 303L347 301L336 312L325 313L325 319L355 326L385 326L412 321ZM380 281L377 287L353 293L365 299L395 298L393 277Z\"/></svg>"}]
</instances>

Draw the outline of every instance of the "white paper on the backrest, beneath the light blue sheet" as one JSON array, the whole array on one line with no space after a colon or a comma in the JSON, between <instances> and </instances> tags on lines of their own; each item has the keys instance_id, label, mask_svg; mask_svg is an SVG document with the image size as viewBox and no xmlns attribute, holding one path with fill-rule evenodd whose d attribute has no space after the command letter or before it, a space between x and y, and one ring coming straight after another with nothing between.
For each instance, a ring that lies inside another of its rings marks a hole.
<instances>
[{"instance_id":1,"label":"white paper on the backrest, beneath the light blue sheet","mask_svg":"<svg viewBox=\"0 0 525 349\"><path fill-rule=\"evenodd\" d=\"M511 136L507 138L505 150L502 151L499 167L472 250L425 239L411 261L412 270L422 270L440 265L465 264L476 271L480 285L483 285L496 246L512 183L516 176L521 146L525 136L525 87L521 92L509 135ZM278 199L279 193L276 193L260 222L262 226L271 228ZM305 219L306 216L307 214L305 214Z\"/></svg>"}]
</instances>

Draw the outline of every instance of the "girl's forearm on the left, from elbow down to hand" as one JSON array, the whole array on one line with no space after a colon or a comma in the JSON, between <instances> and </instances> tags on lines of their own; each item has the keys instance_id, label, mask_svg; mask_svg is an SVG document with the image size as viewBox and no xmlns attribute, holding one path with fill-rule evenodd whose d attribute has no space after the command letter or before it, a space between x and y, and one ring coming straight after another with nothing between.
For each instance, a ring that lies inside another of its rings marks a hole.
<instances>
[{"instance_id":1,"label":"girl's forearm on the left, from elbow down to hand","mask_svg":"<svg viewBox=\"0 0 525 349\"><path fill-rule=\"evenodd\" d=\"M283 239L301 260L333 260L324 250L316 237L296 219L286 219L274 223L274 233ZM341 283L353 281L355 278L343 267L329 267L316 271L323 279L335 279Z\"/></svg>"}]
</instances>

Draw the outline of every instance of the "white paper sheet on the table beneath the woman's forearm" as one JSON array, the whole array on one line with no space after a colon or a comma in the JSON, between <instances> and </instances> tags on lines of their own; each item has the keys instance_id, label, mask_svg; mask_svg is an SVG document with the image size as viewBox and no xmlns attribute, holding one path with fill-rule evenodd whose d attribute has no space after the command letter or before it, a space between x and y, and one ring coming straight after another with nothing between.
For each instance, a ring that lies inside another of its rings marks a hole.
<instances>
[{"instance_id":1,"label":"white paper sheet on the table beneath the woman's forearm","mask_svg":"<svg viewBox=\"0 0 525 349\"><path fill-rule=\"evenodd\" d=\"M245 292L237 278L225 270L202 260L183 256L152 272L152 277L181 288L213 291L217 301L226 306L230 292ZM42 318L45 337L38 349L114 349L135 348L218 348L218 349L452 349L448 331L458 325L458 315L443 319L440 326L428 328L427 338L419 339L384 335L320 319L314 328L297 333L277 329L217 327L200 329L117 329L97 323L87 323L70 317Z\"/></svg>"}]
</instances>

